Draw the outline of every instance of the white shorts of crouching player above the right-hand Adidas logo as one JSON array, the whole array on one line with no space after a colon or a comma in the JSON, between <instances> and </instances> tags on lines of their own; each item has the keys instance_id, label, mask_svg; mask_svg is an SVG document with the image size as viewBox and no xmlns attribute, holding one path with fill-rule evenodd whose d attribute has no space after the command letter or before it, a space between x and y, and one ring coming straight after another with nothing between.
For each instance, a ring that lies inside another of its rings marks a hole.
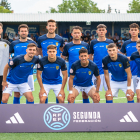
<instances>
[{"instance_id":1,"label":"white shorts of crouching player above the right-hand Adidas logo","mask_svg":"<svg viewBox=\"0 0 140 140\"><path fill-rule=\"evenodd\" d=\"M127 91L127 81L123 82L116 82L116 81L110 81L111 91L113 97L118 97L119 89L121 89L125 94ZM131 90L134 92L134 85L133 85L133 79L131 79Z\"/></svg>"}]
</instances>

